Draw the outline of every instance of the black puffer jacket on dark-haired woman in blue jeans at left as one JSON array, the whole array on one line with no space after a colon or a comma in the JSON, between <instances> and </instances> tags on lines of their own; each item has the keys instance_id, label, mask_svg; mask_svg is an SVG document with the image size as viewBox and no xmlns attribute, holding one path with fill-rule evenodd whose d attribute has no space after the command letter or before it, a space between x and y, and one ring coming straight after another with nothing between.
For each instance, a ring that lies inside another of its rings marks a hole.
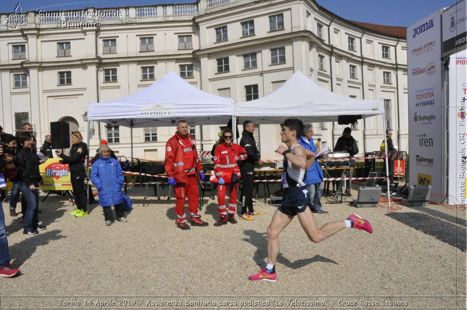
<instances>
[{"instance_id":1,"label":"black puffer jacket on dark-haired woman in blue jeans at left","mask_svg":"<svg viewBox=\"0 0 467 310\"><path fill-rule=\"evenodd\" d=\"M18 169L15 181L31 186L42 180L37 157L33 154L31 148L21 148L15 157L14 164Z\"/></svg>"}]
</instances>

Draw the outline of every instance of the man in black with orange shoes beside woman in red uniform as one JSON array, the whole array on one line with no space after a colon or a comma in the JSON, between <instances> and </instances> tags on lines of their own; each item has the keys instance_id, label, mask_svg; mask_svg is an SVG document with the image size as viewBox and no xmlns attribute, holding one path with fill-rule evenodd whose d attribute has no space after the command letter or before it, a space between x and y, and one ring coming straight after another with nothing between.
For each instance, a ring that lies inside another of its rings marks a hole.
<instances>
[{"instance_id":1,"label":"man in black with orange shoes beside woman in red uniform","mask_svg":"<svg viewBox=\"0 0 467 310\"><path fill-rule=\"evenodd\" d=\"M252 215L260 214L253 209L253 181L255 179L255 162L260 160L260 152L256 147L256 141L253 137L255 124L251 120L243 122L243 132L241 133L240 146L247 151L247 159L241 161L240 173L243 181L241 190L241 213L240 217L246 220L253 220ZM248 212L247 212L248 208Z\"/></svg>"}]
</instances>

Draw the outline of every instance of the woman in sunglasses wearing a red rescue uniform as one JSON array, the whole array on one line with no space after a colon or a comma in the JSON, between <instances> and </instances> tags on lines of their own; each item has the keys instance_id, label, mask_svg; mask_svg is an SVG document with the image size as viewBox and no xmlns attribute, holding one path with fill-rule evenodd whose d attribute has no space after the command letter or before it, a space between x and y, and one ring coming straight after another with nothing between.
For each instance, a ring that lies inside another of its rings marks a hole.
<instances>
[{"instance_id":1,"label":"woman in sunglasses wearing a red rescue uniform","mask_svg":"<svg viewBox=\"0 0 467 310\"><path fill-rule=\"evenodd\" d=\"M230 128L222 132L224 140L214 151L214 173L218 178L217 201L219 203L219 221L214 226L227 224L229 221L236 224L237 189L241 177L238 161L247 159L247 151L239 144L233 143L233 133ZM226 209L226 189L229 185L229 210Z\"/></svg>"}]
</instances>

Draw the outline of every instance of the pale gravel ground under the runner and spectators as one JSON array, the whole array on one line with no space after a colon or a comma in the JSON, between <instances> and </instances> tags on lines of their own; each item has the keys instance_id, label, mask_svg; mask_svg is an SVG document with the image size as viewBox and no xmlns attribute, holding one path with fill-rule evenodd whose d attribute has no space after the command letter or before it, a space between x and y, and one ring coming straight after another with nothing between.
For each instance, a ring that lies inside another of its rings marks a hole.
<instances>
[{"instance_id":1,"label":"pale gravel ground under the runner and spectators","mask_svg":"<svg viewBox=\"0 0 467 310\"><path fill-rule=\"evenodd\" d=\"M354 197L355 189L354 184ZM255 309L466 308L466 253L385 216L379 207L354 208L348 198L327 203L323 197L329 215L315 217L319 226L356 212L370 220L374 232L347 229L314 244L294 219L281 233L272 283L249 281L248 275L266 264L266 229L276 207L258 199L255 210L261 214L255 220L214 227L217 203L207 198L201 214L209 226L182 231L175 225L173 198L150 197L143 206L142 195L142 189L130 191L134 210L126 214L128 222L111 226L104 225L97 204L88 217L76 218L68 214L71 203L50 195L39 215L47 230L33 236L22 234L20 216L8 216L3 204L10 257L21 275L1 279L0 296L56 297L0 297L0 308L90 308L84 302L89 299L93 307L96 300L109 300L106 308L118 308L122 300L96 296L138 296L126 299L135 301L134 308L240 308L242 302L241 308ZM430 210L443 220L458 218L465 228L466 211L435 205ZM294 304L296 299L308 304Z\"/></svg>"}]
</instances>

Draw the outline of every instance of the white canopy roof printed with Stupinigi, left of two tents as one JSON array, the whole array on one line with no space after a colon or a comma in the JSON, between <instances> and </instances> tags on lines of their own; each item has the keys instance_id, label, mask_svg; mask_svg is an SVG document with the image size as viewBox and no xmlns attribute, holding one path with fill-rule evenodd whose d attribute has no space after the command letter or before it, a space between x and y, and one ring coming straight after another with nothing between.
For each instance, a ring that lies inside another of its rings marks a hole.
<instances>
[{"instance_id":1,"label":"white canopy roof printed with Stupinigi, left of two tents","mask_svg":"<svg viewBox=\"0 0 467 310\"><path fill-rule=\"evenodd\" d=\"M127 97L88 103L88 120L130 127L227 124L233 99L215 96L186 82L174 71L160 81Z\"/></svg>"}]
</instances>

